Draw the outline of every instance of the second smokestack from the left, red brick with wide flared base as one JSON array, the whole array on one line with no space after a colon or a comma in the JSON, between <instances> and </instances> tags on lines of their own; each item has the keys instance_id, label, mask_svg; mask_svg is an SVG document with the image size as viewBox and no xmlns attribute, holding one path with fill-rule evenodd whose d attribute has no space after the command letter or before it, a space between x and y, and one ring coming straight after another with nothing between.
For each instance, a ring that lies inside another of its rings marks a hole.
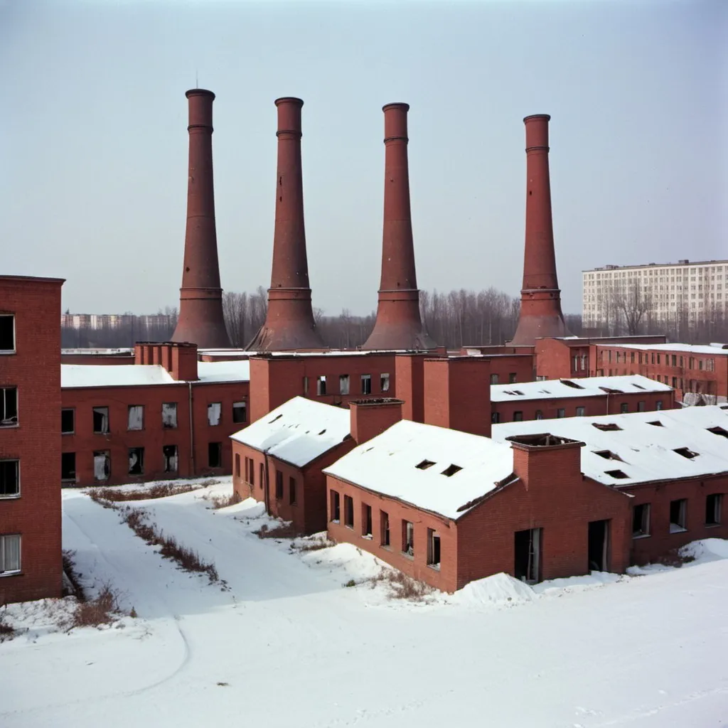
<instances>
[{"instance_id":1,"label":"second smokestack from the left, red brick with wide flared base","mask_svg":"<svg viewBox=\"0 0 728 728\"><path fill-rule=\"evenodd\" d=\"M273 270L266 322L248 344L259 352L323 349L311 308L301 178L300 98L279 98Z\"/></svg>"}]
</instances>

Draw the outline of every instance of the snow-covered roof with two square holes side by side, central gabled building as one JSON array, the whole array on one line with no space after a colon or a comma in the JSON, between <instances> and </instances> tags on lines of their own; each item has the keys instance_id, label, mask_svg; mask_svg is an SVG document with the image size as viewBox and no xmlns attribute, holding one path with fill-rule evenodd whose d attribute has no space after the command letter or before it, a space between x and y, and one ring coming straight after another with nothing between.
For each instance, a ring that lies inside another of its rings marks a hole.
<instances>
[{"instance_id":1,"label":"snow-covered roof with two square holes side by side, central gabled building","mask_svg":"<svg viewBox=\"0 0 728 728\"><path fill-rule=\"evenodd\" d=\"M513 451L480 435L401 420L324 472L455 519L511 475Z\"/></svg>"}]
</instances>

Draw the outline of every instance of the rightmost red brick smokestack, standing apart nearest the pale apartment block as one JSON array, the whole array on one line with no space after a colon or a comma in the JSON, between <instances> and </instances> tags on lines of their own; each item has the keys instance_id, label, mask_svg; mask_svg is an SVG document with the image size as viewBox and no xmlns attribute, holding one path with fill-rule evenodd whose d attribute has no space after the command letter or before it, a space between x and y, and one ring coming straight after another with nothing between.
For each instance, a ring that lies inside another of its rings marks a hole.
<instances>
[{"instance_id":1,"label":"rightmost red brick smokestack, standing apart nearest the pale apartment block","mask_svg":"<svg viewBox=\"0 0 728 728\"><path fill-rule=\"evenodd\" d=\"M548 114L526 116L526 251L518 328L513 346L533 346L542 336L569 336L561 313L561 290L551 221Z\"/></svg>"}]
</instances>

